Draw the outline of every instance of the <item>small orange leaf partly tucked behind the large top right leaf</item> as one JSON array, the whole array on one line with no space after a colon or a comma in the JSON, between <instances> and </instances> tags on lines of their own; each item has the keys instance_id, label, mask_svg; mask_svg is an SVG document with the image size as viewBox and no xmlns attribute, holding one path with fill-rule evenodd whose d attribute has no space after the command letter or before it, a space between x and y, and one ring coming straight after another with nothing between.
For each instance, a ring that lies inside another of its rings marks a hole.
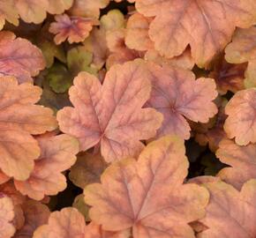
<instances>
[{"instance_id":1,"label":"small orange leaf partly tucked behind the large top right leaf","mask_svg":"<svg viewBox=\"0 0 256 238\"><path fill-rule=\"evenodd\" d=\"M141 51L154 48L154 43L148 35L151 21L151 18L146 18L139 13L134 13L128 19L125 32L125 44L128 48Z\"/></svg>"}]
</instances>

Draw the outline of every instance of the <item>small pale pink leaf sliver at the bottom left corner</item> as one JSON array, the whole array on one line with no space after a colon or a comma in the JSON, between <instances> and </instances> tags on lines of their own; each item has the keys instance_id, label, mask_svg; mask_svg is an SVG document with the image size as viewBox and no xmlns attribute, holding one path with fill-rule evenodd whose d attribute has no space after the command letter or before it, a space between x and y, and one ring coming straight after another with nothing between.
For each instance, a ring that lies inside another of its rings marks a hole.
<instances>
[{"instance_id":1,"label":"small pale pink leaf sliver at the bottom left corner","mask_svg":"<svg viewBox=\"0 0 256 238\"><path fill-rule=\"evenodd\" d=\"M0 194L0 236L4 238L11 238L15 233L15 227L11 224L14 219L14 207L11 198L2 197Z\"/></svg>"}]
</instances>

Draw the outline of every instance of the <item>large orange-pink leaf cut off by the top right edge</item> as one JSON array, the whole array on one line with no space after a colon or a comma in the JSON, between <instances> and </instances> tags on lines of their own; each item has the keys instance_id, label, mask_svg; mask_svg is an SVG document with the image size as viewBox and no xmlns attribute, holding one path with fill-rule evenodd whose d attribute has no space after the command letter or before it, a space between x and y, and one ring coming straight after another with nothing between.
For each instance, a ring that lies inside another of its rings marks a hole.
<instances>
[{"instance_id":1,"label":"large orange-pink leaf cut off by the top right edge","mask_svg":"<svg viewBox=\"0 0 256 238\"><path fill-rule=\"evenodd\" d=\"M149 36L162 56L179 56L189 44L200 68L225 48L236 26L256 22L252 0L137 0L136 7L146 16L155 16Z\"/></svg>"}]
</instances>

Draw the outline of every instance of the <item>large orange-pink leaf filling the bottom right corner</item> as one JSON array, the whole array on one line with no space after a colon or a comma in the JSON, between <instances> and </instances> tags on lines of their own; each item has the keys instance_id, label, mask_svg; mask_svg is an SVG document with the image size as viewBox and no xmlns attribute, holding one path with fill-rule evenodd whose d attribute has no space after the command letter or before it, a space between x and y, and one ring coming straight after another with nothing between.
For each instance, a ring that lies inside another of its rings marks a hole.
<instances>
[{"instance_id":1,"label":"large orange-pink leaf filling the bottom right corner","mask_svg":"<svg viewBox=\"0 0 256 238\"><path fill-rule=\"evenodd\" d=\"M206 217L200 222L208 229L198 237L255 237L256 180L245 182L240 192L224 182L210 182L204 186L210 192L210 202Z\"/></svg>"}]
</instances>

